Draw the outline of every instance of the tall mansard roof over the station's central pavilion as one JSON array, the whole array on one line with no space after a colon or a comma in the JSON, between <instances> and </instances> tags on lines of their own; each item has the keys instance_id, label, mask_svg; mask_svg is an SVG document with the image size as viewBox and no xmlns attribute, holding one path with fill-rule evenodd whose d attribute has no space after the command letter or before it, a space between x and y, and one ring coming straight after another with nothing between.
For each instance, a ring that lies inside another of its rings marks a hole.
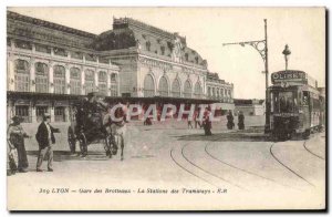
<instances>
[{"instance_id":1,"label":"tall mansard roof over the station's central pavilion","mask_svg":"<svg viewBox=\"0 0 332 217\"><path fill-rule=\"evenodd\" d=\"M91 48L98 51L120 50L137 46L144 52L172 58L173 49L179 42L181 60L206 65L199 53L187 46L186 38L170 33L132 18L113 20L113 30L96 37Z\"/></svg>"}]
</instances>

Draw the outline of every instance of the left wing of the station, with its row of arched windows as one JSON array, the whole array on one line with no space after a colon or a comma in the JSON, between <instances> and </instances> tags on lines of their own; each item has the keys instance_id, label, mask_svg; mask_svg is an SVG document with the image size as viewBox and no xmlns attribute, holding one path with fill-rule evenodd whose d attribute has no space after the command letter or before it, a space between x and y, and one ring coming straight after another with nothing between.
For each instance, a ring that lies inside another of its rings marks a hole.
<instances>
[{"instance_id":1,"label":"left wing of the station, with its row of arched windows","mask_svg":"<svg viewBox=\"0 0 332 217\"><path fill-rule=\"evenodd\" d=\"M51 121L66 122L70 102L59 95L120 95L118 66L101 62L100 52L86 48L95 35L13 12L7 18L7 90L35 95L9 96L8 120L21 115L33 123L49 112Z\"/></svg>"}]
</instances>

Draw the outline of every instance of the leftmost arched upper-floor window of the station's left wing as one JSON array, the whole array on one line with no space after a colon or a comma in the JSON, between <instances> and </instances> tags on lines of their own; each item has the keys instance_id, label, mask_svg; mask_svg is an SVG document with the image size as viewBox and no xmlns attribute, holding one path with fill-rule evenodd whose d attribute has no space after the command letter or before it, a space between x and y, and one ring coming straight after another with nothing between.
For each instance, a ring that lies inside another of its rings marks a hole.
<instances>
[{"instance_id":1,"label":"leftmost arched upper-floor window of the station's left wing","mask_svg":"<svg viewBox=\"0 0 332 217\"><path fill-rule=\"evenodd\" d=\"M25 60L15 60L15 91L29 92L30 91L30 65Z\"/></svg>"}]
</instances>

